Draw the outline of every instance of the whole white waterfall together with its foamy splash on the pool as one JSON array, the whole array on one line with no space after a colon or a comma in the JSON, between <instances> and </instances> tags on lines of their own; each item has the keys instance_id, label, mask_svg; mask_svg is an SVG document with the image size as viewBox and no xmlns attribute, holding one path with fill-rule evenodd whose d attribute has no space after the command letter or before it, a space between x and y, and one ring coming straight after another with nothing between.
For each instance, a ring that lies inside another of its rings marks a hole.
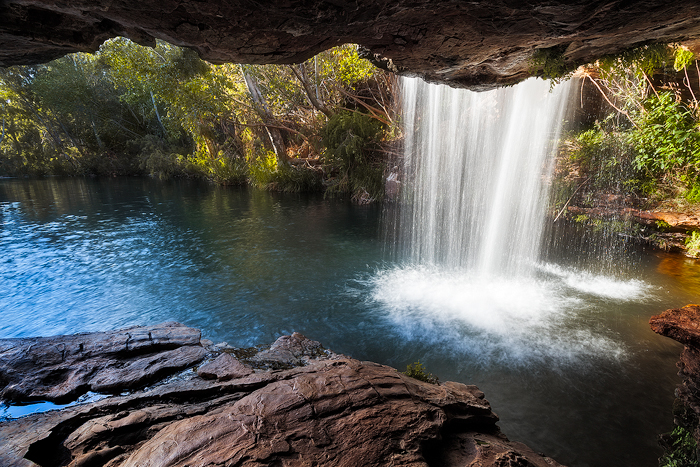
<instances>
[{"instance_id":1,"label":"whole white waterfall together with its foamy splash on the pool","mask_svg":"<svg viewBox=\"0 0 700 467\"><path fill-rule=\"evenodd\" d=\"M539 263L570 86L402 83L404 261L372 279L388 320L408 339L449 342L484 363L624 355L586 315L601 300L638 299L645 285Z\"/></svg>"}]
</instances>

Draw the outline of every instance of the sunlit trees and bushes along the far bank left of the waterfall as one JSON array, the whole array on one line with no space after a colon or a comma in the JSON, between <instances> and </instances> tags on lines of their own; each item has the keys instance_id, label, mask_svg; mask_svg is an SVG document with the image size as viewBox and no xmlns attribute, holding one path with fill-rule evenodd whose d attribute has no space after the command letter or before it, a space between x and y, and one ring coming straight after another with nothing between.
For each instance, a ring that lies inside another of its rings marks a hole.
<instances>
[{"instance_id":1,"label":"sunlit trees and bushes along the far bank left of the waterfall","mask_svg":"<svg viewBox=\"0 0 700 467\"><path fill-rule=\"evenodd\" d=\"M204 177L382 196L392 78L356 46L286 66L212 65L128 39L0 69L0 175Z\"/></svg>"}]
</instances>

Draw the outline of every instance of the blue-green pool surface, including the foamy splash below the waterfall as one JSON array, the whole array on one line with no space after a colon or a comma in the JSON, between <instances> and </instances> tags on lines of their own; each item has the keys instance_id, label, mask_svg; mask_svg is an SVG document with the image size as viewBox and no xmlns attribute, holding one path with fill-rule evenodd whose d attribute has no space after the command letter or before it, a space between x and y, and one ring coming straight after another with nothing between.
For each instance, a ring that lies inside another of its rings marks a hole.
<instances>
[{"instance_id":1,"label":"blue-green pool surface, including the foamy splash below the waterfall","mask_svg":"<svg viewBox=\"0 0 700 467\"><path fill-rule=\"evenodd\" d=\"M473 277L404 262L384 217L194 182L0 180L0 338L176 320L247 347L298 331L476 384L511 439L564 464L657 465L681 347L647 323L699 301L697 262L561 243L527 280Z\"/></svg>"}]
</instances>

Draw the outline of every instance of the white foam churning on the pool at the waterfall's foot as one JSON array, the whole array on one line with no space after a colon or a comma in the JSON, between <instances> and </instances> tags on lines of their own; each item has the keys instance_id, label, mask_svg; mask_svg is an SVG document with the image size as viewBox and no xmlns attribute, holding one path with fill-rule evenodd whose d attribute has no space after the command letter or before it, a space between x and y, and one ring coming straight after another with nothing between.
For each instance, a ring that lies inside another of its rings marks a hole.
<instances>
[{"instance_id":1,"label":"white foam churning on the pool at the waterfall's foot","mask_svg":"<svg viewBox=\"0 0 700 467\"><path fill-rule=\"evenodd\" d=\"M377 272L371 296L407 339L441 342L483 364L580 363L619 359L621 344L582 321L588 307L568 285L551 279L475 275L438 267Z\"/></svg>"}]
</instances>

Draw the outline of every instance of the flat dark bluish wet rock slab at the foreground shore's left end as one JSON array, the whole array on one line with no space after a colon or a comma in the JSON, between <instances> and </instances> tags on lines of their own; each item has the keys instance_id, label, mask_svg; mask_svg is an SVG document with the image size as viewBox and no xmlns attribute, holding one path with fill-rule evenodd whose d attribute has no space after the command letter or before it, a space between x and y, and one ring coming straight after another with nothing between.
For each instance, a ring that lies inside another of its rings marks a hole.
<instances>
[{"instance_id":1,"label":"flat dark bluish wet rock slab at the foreground shore's left end","mask_svg":"<svg viewBox=\"0 0 700 467\"><path fill-rule=\"evenodd\" d=\"M179 323L72 336L0 340L0 399L65 402L88 391L120 392L206 356L197 329Z\"/></svg>"}]
</instances>

